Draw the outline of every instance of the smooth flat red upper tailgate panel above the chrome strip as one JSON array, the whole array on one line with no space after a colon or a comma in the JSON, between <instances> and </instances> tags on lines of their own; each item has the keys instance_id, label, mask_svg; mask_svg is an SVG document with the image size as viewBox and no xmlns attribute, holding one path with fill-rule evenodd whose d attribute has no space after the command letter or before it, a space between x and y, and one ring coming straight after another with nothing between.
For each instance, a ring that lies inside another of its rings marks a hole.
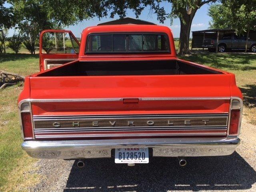
<instances>
[{"instance_id":1,"label":"smooth flat red upper tailgate panel above the chrome strip","mask_svg":"<svg viewBox=\"0 0 256 192\"><path fill-rule=\"evenodd\" d=\"M229 74L30 77L32 99L230 97Z\"/></svg>"}]
</instances>

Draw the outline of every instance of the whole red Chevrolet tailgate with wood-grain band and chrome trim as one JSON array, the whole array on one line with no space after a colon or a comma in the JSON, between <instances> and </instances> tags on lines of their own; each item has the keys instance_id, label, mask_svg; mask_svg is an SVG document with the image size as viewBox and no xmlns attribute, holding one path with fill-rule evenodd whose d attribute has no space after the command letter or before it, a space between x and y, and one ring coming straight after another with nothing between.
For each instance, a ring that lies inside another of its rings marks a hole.
<instances>
[{"instance_id":1,"label":"whole red Chevrolet tailgate with wood-grain band and chrome trim","mask_svg":"<svg viewBox=\"0 0 256 192\"><path fill-rule=\"evenodd\" d=\"M33 76L30 98L38 139L226 136L230 74Z\"/></svg>"}]
</instances>

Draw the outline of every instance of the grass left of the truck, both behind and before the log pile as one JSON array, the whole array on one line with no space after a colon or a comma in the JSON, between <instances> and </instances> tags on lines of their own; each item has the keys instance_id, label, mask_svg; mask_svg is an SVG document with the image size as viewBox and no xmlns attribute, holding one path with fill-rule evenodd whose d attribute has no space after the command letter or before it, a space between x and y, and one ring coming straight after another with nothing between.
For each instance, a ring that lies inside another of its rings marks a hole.
<instances>
[{"instance_id":1,"label":"grass left of the truck, both behind and before the log pile","mask_svg":"<svg viewBox=\"0 0 256 192\"><path fill-rule=\"evenodd\" d=\"M0 70L24 76L38 72L38 55L0 54ZM20 148L20 125L17 100L23 84L0 90L0 191L23 191L24 186L38 181L37 174L30 172L36 159L30 158Z\"/></svg>"}]
</instances>

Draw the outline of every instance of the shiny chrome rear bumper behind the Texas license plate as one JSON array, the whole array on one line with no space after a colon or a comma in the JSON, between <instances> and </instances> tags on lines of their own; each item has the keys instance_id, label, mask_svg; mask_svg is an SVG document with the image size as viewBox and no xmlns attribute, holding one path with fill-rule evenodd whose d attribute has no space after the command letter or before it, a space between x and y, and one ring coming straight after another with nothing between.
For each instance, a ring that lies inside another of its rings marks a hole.
<instances>
[{"instance_id":1,"label":"shiny chrome rear bumper behind the Texas license plate","mask_svg":"<svg viewBox=\"0 0 256 192\"><path fill-rule=\"evenodd\" d=\"M49 159L106 158L114 148L143 147L152 148L153 156L223 156L239 143L237 137L24 141L22 149L33 158Z\"/></svg>"}]
</instances>

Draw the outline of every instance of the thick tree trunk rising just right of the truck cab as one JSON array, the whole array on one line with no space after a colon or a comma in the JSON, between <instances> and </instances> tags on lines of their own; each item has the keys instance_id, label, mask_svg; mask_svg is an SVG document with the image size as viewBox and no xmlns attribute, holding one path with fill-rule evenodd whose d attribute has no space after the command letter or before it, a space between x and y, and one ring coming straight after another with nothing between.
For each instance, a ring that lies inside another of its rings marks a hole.
<instances>
[{"instance_id":1,"label":"thick tree trunk rising just right of the truck cab","mask_svg":"<svg viewBox=\"0 0 256 192\"><path fill-rule=\"evenodd\" d=\"M182 22L182 18L180 18L180 46L178 50L178 54L190 54L189 50L189 37L190 37L190 29L192 20L195 16L196 9L190 11L190 14L187 12L183 14L183 19L185 23Z\"/></svg>"}]
</instances>

